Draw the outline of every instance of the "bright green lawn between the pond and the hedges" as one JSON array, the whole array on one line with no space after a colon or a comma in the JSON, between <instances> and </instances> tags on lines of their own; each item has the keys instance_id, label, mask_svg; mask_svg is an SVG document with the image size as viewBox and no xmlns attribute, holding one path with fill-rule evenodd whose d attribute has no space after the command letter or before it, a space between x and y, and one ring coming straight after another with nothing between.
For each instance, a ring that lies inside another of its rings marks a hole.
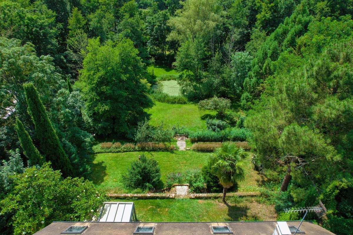
<instances>
[{"instance_id":1,"label":"bright green lawn between the pond and the hedges","mask_svg":"<svg viewBox=\"0 0 353 235\"><path fill-rule=\"evenodd\" d=\"M206 129L206 119L213 118L215 112L199 110L196 104L166 104L155 101L155 106L147 110L151 116L150 124L164 127L185 126L191 131Z\"/></svg>"}]
</instances>

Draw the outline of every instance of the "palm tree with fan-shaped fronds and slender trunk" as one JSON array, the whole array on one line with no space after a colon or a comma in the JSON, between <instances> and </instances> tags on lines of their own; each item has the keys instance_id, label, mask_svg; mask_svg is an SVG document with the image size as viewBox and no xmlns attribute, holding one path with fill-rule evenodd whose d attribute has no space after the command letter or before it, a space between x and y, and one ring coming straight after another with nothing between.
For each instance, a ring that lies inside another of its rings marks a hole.
<instances>
[{"instance_id":1,"label":"palm tree with fan-shaped fronds and slender trunk","mask_svg":"<svg viewBox=\"0 0 353 235\"><path fill-rule=\"evenodd\" d=\"M222 200L224 203L226 203L227 189L232 187L234 183L245 179L242 161L246 156L244 149L229 142L223 143L211 155L212 168L223 186Z\"/></svg>"}]
</instances>

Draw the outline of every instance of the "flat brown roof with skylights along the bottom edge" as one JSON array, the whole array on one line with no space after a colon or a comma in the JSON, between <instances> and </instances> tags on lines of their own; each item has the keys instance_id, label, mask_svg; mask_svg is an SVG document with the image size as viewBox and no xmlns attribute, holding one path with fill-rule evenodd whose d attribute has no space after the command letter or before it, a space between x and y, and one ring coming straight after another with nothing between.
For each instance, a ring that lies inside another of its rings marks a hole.
<instances>
[{"instance_id":1,"label":"flat brown roof with skylights along the bottom edge","mask_svg":"<svg viewBox=\"0 0 353 235\"><path fill-rule=\"evenodd\" d=\"M288 221L298 226L299 221ZM88 226L84 235L132 235L137 226L155 226L155 235L213 235L211 226L228 226L235 235L271 235L277 221L261 222L53 222L35 235L60 235L73 226ZM304 221L300 230L307 235L334 235L317 224Z\"/></svg>"}]
</instances>

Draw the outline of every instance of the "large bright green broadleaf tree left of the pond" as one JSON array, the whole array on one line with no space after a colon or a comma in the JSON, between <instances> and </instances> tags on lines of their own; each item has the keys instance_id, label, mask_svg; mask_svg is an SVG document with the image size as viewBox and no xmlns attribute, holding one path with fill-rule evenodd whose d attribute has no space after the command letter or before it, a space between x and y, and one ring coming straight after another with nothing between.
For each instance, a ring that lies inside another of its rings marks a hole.
<instances>
[{"instance_id":1,"label":"large bright green broadleaf tree left of the pond","mask_svg":"<svg viewBox=\"0 0 353 235\"><path fill-rule=\"evenodd\" d=\"M90 40L78 81L85 100L85 112L99 134L126 135L131 126L146 116L152 106L141 83L145 72L131 40L101 46Z\"/></svg>"}]
</instances>

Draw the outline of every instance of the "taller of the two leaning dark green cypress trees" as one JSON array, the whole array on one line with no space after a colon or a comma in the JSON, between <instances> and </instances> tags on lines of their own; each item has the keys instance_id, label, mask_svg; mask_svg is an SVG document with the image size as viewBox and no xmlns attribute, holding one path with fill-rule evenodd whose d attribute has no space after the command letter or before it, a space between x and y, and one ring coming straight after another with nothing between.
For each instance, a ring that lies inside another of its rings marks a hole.
<instances>
[{"instance_id":1,"label":"taller of the two leaning dark green cypress trees","mask_svg":"<svg viewBox=\"0 0 353 235\"><path fill-rule=\"evenodd\" d=\"M70 160L61 146L36 88L32 83L24 84L23 88L28 105L28 113L31 115L35 125L41 153L48 161L52 162L53 169L61 170L64 177L73 176Z\"/></svg>"}]
</instances>

